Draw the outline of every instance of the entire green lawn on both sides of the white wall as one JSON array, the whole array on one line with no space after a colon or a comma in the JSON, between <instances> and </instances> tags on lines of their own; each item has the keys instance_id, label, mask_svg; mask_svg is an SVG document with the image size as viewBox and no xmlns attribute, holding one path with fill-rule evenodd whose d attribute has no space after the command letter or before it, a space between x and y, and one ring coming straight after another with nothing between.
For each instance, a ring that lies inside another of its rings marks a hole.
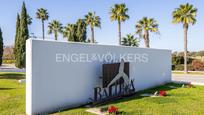
<instances>
[{"instance_id":1,"label":"entire green lawn on both sides of the white wall","mask_svg":"<svg viewBox=\"0 0 204 115\"><path fill-rule=\"evenodd\" d=\"M17 79L24 78L20 73L0 73L0 115L25 114L25 85ZM176 89L169 88L170 85ZM167 97L140 97L141 93L154 93L166 90ZM204 87L181 88L178 84L168 84L157 88L140 91L137 95L126 99L112 101L100 106L114 105L126 115L135 114L204 114ZM56 115L91 115L87 108L70 109Z\"/></svg>"}]
</instances>

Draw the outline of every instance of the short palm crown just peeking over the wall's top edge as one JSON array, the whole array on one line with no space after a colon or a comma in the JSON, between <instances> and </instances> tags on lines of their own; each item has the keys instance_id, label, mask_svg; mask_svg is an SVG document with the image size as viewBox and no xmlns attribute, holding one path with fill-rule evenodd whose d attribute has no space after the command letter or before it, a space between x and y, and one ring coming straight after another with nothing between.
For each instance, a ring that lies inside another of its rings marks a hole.
<instances>
[{"instance_id":1,"label":"short palm crown just peeking over the wall's top edge","mask_svg":"<svg viewBox=\"0 0 204 115\"><path fill-rule=\"evenodd\" d=\"M124 46L139 46L139 40L134 37L132 34L127 34L126 37L123 37L122 45Z\"/></svg>"}]
</instances>

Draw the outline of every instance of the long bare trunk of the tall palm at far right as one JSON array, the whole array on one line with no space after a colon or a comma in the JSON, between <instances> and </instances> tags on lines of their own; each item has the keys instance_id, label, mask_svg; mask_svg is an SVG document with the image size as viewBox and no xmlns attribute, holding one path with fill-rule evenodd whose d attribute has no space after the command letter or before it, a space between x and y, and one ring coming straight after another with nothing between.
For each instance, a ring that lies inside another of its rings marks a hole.
<instances>
[{"instance_id":1,"label":"long bare trunk of the tall palm at far right","mask_svg":"<svg viewBox=\"0 0 204 115\"><path fill-rule=\"evenodd\" d=\"M188 73L188 68L187 68L187 34L188 34L188 28L184 27L184 73Z\"/></svg>"}]
</instances>

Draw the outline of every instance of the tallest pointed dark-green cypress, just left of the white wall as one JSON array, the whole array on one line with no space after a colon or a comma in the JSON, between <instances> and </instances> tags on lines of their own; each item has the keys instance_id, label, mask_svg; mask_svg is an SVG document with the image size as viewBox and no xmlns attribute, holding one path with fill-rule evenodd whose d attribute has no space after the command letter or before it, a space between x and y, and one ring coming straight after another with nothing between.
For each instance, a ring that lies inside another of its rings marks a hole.
<instances>
[{"instance_id":1,"label":"tallest pointed dark-green cypress, just left of the white wall","mask_svg":"<svg viewBox=\"0 0 204 115\"><path fill-rule=\"evenodd\" d=\"M25 48L26 48L26 40L29 38L28 32L28 23L27 23L27 10L25 3L23 2L22 10L21 10L21 18L20 18L20 32L18 42L20 43L18 48L18 56L20 65L18 68L25 68Z\"/></svg>"}]
</instances>

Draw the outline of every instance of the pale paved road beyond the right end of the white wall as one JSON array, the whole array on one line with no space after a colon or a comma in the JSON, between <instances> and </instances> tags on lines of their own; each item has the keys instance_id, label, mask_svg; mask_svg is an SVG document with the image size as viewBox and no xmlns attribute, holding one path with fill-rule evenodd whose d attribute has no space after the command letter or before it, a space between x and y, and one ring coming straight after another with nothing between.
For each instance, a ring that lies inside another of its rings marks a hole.
<instances>
[{"instance_id":1,"label":"pale paved road beyond the right end of the white wall","mask_svg":"<svg viewBox=\"0 0 204 115\"><path fill-rule=\"evenodd\" d=\"M172 75L172 80L204 84L204 75Z\"/></svg>"}]
</instances>

